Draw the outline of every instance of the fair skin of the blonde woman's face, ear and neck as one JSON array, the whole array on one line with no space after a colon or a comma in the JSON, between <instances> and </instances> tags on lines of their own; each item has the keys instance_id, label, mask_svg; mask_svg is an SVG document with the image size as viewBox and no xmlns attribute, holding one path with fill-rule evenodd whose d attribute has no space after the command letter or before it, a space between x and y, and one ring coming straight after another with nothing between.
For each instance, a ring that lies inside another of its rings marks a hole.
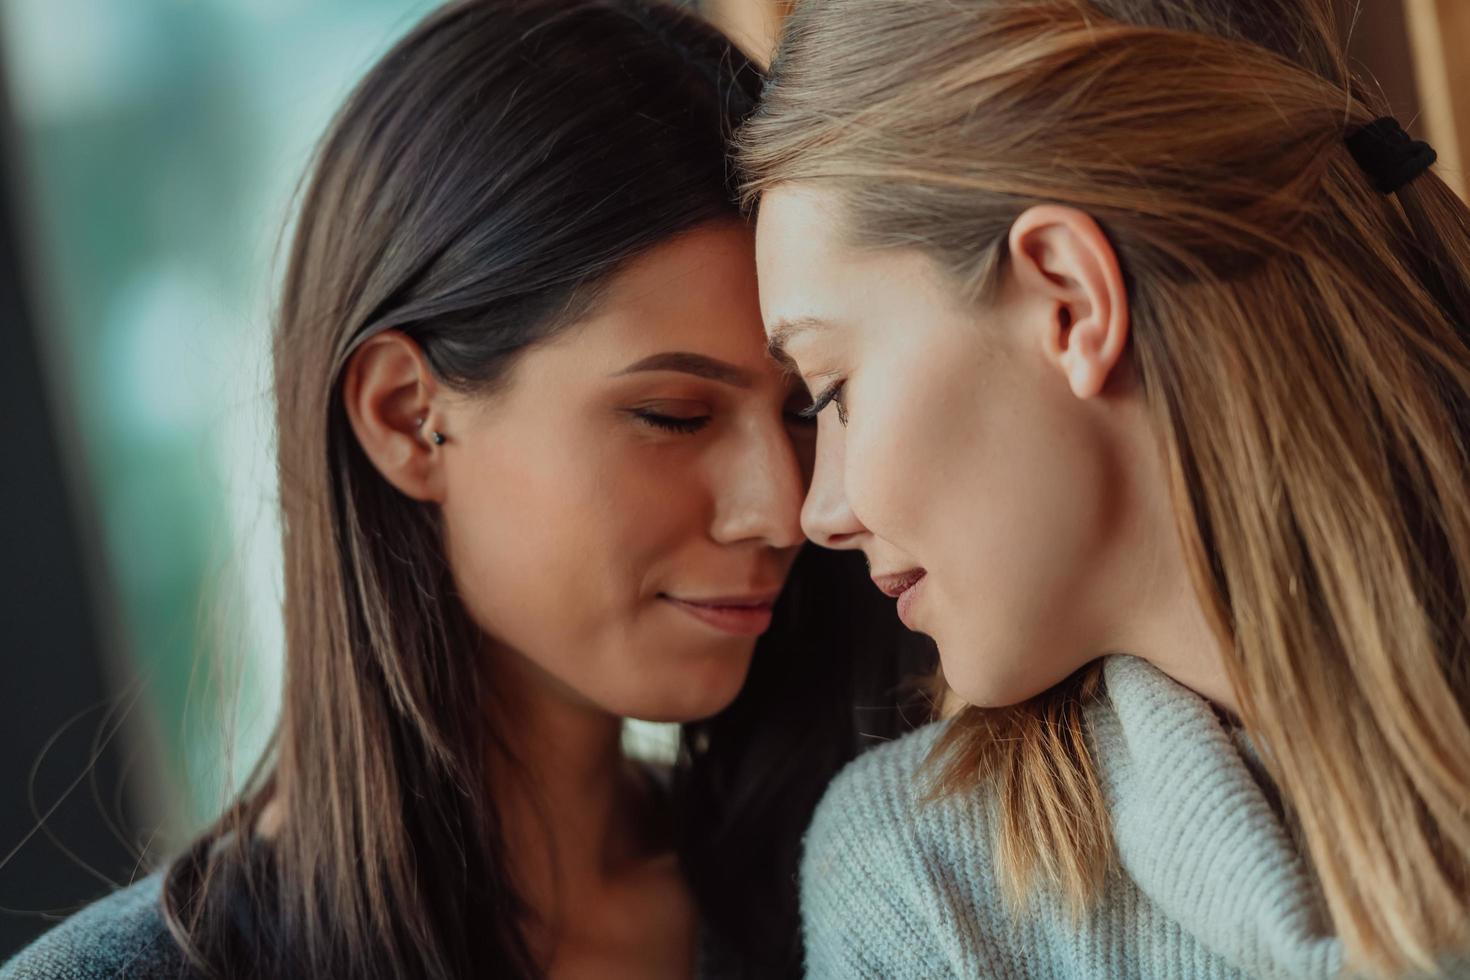
<instances>
[{"instance_id":1,"label":"fair skin of the blonde woman's face, ear and neck","mask_svg":"<svg viewBox=\"0 0 1470 980\"><path fill-rule=\"evenodd\" d=\"M772 350L819 406L835 394L807 535L861 550L891 594L911 586L900 613L969 704L1017 704L1126 652L1236 711L1097 222L1026 210L985 301L920 250L857 248L847 228L819 181L761 197Z\"/></svg>"}]
</instances>

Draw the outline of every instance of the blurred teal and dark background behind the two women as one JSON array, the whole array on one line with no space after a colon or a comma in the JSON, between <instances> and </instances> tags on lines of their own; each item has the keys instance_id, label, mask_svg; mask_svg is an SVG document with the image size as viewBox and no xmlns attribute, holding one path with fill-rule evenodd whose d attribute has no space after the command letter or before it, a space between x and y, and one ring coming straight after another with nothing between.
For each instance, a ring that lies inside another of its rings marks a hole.
<instances>
[{"instance_id":1,"label":"blurred teal and dark background behind the two women","mask_svg":"<svg viewBox=\"0 0 1470 980\"><path fill-rule=\"evenodd\" d=\"M431 6L0 4L0 961L168 857L269 732L279 242L331 112ZM786 9L704 6L761 57ZM1470 3L1342 7L1464 192Z\"/></svg>"}]
</instances>

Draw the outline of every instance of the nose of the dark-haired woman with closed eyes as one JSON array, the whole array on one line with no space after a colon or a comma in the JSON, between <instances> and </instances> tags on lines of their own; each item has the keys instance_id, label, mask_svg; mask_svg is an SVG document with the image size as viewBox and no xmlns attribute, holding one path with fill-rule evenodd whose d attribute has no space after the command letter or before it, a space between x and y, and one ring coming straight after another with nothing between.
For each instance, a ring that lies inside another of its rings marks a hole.
<instances>
[{"instance_id":1,"label":"nose of the dark-haired woman with closed eyes","mask_svg":"<svg viewBox=\"0 0 1470 980\"><path fill-rule=\"evenodd\" d=\"M711 535L720 544L759 541L770 548L803 544L803 475L791 435L778 417L753 426L716 473Z\"/></svg>"}]
</instances>

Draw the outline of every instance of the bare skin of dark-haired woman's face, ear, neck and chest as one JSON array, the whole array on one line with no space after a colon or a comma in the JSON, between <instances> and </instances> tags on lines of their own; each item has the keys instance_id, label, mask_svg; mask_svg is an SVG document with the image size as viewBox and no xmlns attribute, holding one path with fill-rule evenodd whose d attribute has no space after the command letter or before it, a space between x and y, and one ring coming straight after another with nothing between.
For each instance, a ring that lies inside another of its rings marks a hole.
<instances>
[{"instance_id":1,"label":"bare skin of dark-haired woman's face, ear, neck and chest","mask_svg":"<svg viewBox=\"0 0 1470 980\"><path fill-rule=\"evenodd\" d=\"M620 732L735 698L804 541L813 430L759 317L751 231L717 222L626 264L492 394L438 383L395 332L344 376L368 457L440 508L484 629L497 730L532 780L495 771L494 792L559 980L692 976L694 902Z\"/></svg>"}]
</instances>

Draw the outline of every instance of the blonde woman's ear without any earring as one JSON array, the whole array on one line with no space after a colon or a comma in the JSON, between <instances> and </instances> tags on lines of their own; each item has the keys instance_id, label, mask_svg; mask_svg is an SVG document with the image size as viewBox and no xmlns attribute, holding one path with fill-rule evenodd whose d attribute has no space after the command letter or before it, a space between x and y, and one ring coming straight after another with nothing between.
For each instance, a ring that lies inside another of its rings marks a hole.
<instances>
[{"instance_id":1,"label":"blonde woman's ear without any earring","mask_svg":"<svg viewBox=\"0 0 1470 980\"><path fill-rule=\"evenodd\" d=\"M1038 204L1010 229L1010 275L1026 309L1045 310L1048 360L1072 394L1102 392L1127 348L1129 307L1117 253L1091 215Z\"/></svg>"}]
</instances>

